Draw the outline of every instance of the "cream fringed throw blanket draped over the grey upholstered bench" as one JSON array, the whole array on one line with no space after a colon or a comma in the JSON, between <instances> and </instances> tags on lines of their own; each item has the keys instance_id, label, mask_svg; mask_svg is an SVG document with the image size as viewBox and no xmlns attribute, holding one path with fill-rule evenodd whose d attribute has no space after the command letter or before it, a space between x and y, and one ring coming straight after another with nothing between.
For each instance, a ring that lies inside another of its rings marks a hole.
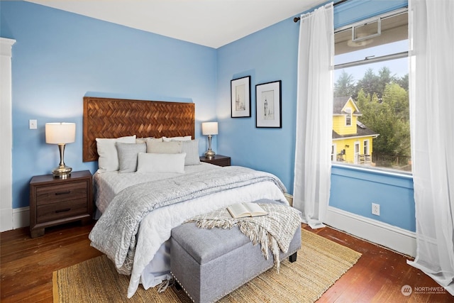
<instances>
[{"instance_id":1,"label":"cream fringed throw blanket draped over the grey upholstered bench","mask_svg":"<svg viewBox=\"0 0 454 303\"><path fill-rule=\"evenodd\" d=\"M199 228L232 228L250 238L253 245L260 243L263 257L268 260L268 248L274 257L275 267L279 272L279 249L287 253L290 242L297 228L301 228L301 212L282 204L258 204L268 212L267 216L233 218L226 208L211 211L208 214L194 216L187 222L195 222Z\"/></svg>"}]
</instances>

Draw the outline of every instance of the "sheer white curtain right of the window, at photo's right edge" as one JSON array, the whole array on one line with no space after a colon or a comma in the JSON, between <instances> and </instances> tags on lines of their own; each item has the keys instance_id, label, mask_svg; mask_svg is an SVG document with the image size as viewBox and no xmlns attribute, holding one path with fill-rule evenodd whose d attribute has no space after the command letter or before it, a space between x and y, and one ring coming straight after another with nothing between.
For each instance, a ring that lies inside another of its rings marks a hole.
<instances>
[{"instance_id":1,"label":"sheer white curtain right of the window, at photo's right edge","mask_svg":"<svg viewBox=\"0 0 454 303\"><path fill-rule=\"evenodd\" d=\"M454 295L454 1L409 0L416 258Z\"/></svg>"}]
</instances>

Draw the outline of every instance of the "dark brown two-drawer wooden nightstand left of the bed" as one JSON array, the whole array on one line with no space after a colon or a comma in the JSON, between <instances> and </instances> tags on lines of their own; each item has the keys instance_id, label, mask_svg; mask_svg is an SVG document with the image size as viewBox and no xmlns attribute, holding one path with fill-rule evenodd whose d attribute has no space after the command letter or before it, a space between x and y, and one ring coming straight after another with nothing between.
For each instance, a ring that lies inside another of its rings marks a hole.
<instances>
[{"instance_id":1,"label":"dark brown two-drawer wooden nightstand left of the bed","mask_svg":"<svg viewBox=\"0 0 454 303\"><path fill-rule=\"evenodd\" d=\"M92 173L71 172L67 179L52 175L35 176L30 181L30 233L44 235L44 228L72 221L92 221Z\"/></svg>"}]
</instances>

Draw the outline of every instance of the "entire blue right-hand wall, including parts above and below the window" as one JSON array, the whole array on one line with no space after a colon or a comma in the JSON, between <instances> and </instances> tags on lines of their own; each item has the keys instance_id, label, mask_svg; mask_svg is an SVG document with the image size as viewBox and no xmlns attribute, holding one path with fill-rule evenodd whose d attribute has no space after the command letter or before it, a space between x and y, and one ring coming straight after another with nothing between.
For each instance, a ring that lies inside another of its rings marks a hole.
<instances>
[{"instance_id":1,"label":"entire blue right-hand wall, including parts above and below the window","mask_svg":"<svg viewBox=\"0 0 454 303\"><path fill-rule=\"evenodd\" d=\"M335 6L335 27L406 4L404 0L350 0ZM231 155L233 165L274 173L290 193L294 182L298 39L299 23L289 18L219 48L217 63L218 150ZM252 117L231 119L230 82L248 75L251 76ZM282 80L282 128L255 128L255 85L276 80ZM331 180L331 206L415 230L411 177L333 167ZM372 202L380 204L380 216L372 216Z\"/></svg>"}]
</instances>

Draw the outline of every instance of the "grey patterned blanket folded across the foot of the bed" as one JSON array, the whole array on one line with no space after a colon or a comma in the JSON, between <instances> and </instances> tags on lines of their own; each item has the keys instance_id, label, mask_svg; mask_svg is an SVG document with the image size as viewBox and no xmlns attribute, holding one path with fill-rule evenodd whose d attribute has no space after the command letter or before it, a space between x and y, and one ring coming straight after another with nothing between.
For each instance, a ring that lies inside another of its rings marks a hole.
<instances>
[{"instance_id":1,"label":"grey patterned blanket folded across the foot of the bed","mask_svg":"<svg viewBox=\"0 0 454 303\"><path fill-rule=\"evenodd\" d=\"M237 166L133 185L118 193L96 222L89 234L91 245L114 261L118 272L130 275L140 221L150 211L263 181L286 191L275 175Z\"/></svg>"}]
</instances>

